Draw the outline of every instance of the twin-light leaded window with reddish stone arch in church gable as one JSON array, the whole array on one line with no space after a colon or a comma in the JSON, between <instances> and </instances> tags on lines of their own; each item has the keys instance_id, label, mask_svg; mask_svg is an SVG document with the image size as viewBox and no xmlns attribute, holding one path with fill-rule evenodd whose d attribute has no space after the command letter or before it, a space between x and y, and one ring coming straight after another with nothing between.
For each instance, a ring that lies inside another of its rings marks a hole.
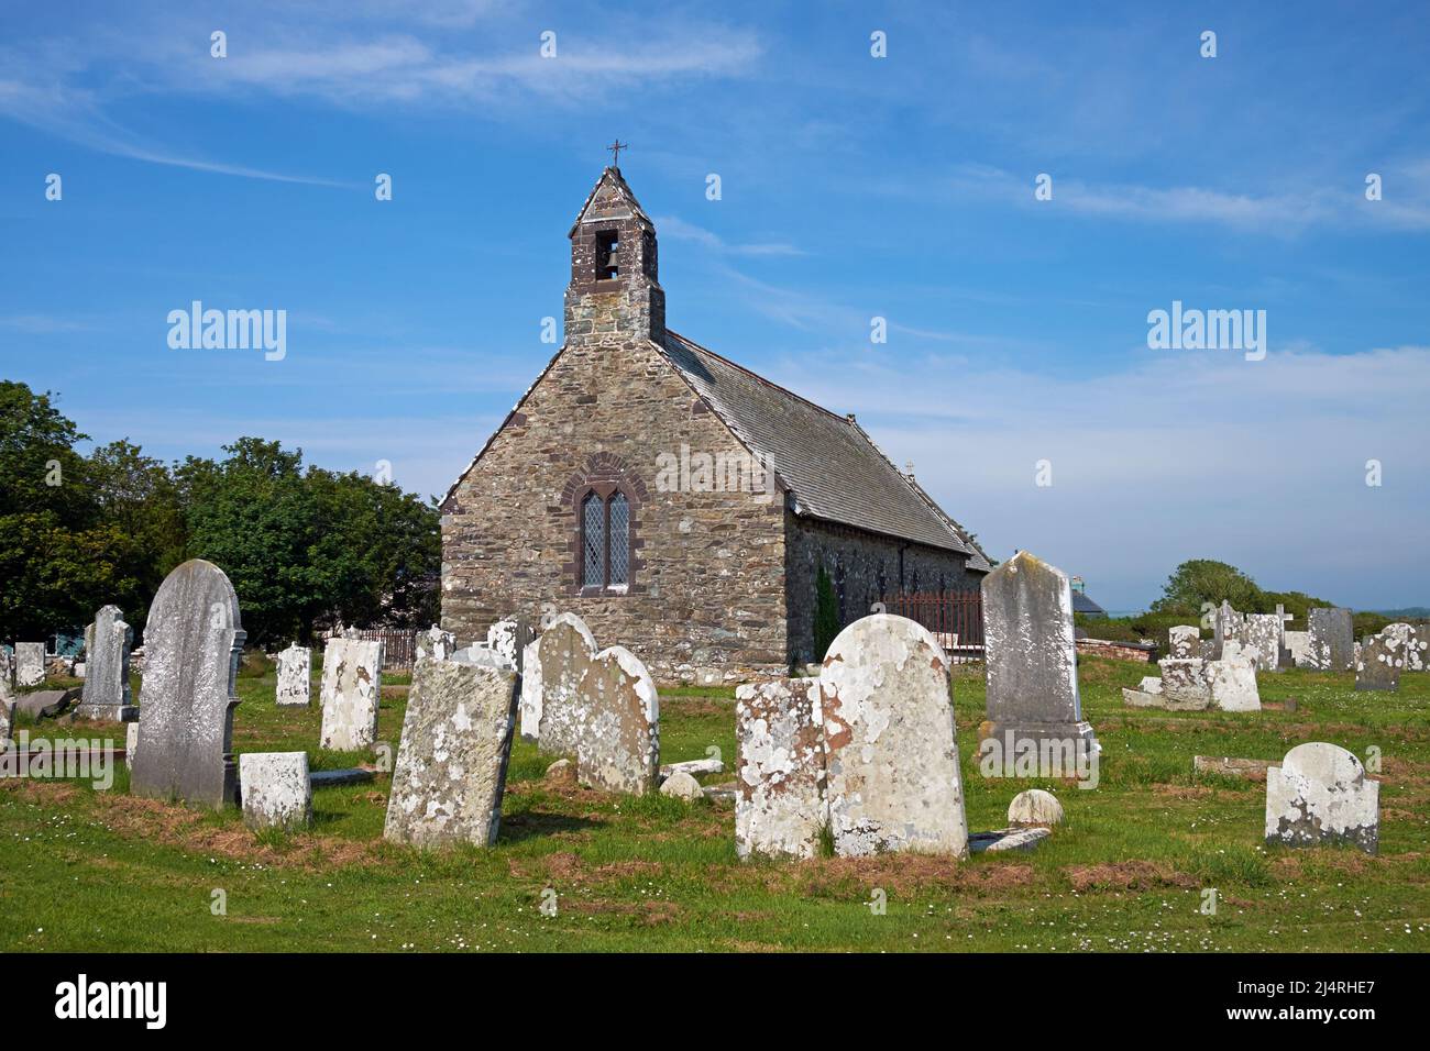
<instances>
[{"instance_id":1,"label":"twin-light leaded window with reddish stone arch in church gable","mask_svg":"<svg viewBox=\"0 0 1430 1051\"><path fill-rule=\"evenodd\" d=\"M566 572L573 595L645 591L639 512L648 495L639 475L612 453L596 453L566 482L561 503L572 515Z\"/></svg>"}]
</instances>

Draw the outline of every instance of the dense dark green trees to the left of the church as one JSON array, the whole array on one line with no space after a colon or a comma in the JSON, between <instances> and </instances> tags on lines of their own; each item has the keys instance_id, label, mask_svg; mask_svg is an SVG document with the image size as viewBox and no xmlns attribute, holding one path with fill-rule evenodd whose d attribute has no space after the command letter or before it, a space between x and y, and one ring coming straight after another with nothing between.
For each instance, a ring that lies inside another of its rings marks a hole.
<instances>
[{"instance_id":1,"label":"dense dark green trees to the left of the church","mask_svg":"<svg viewBox=\"0 0 1430 1051\"><path fill-rule=\"evenodd\" d=\"M419 498L305 470L302 450L257 438L173 469L127 440L86 458L83 440L51 395L0 382L0 638L76 631L109 602L142 635L186 558L229 575L252 643L306 639L320 621L438 619L439 516Z\"/></svg>"}]
</instances>

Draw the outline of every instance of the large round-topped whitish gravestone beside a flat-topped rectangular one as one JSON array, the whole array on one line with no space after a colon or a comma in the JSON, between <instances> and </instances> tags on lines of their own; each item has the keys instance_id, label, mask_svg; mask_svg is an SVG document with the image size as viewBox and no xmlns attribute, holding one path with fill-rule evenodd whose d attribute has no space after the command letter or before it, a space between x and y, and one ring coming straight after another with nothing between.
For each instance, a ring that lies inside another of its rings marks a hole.
<instances>
[{"instance_id":1,"label":"large round-topped whitish gravestone beside a flat-topped rectangular one","mask_svg":"<svg viewBox=\"0 0 1430 1051\"><path fill-rule=\"evenodd\" d=\"M1071 649L1071 616L1065 639ZM835 854L968 857L948 659L927 628L875 613L839 632L819 709Z\"/></svg>"}]
</instances>

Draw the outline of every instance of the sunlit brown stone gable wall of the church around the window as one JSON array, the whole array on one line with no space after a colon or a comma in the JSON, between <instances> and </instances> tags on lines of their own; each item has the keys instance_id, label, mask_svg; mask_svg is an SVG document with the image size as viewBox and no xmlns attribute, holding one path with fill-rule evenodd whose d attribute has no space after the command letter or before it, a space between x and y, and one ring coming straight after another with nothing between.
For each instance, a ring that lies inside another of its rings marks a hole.
<instances>
[{"instance_id":1,"label":"sunlit brown stone gable wall of the church around the window","mask_svg":"<svg viewBox=\"0 0 1430 1051\"><path fill-rule=\"evenodd\" d=\"M662 681L785 668L784 509L661 492L656 456L682 443L739 448L649 345L569 345L443 506L442 626L470 645L509 613L569 609ZM581 479L619 479L631 498L625 593L578 586Z\"/></svg>"}]
</instances>

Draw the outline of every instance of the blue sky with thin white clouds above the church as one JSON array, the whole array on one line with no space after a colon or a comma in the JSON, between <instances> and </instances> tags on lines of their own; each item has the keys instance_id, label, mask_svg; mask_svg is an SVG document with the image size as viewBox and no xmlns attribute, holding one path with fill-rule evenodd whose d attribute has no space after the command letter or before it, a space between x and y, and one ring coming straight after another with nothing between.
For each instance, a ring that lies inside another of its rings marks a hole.
<instances>
[{"instance_id":1,"label":"blue sky with thin white clouds above the church","mask_svg":"<svg viewBox=\"0 0 1430 1051\"><path fill-rule=\"evenodd\" d=\"M386 7L7 4L0 375L164 459L442 492L619 136L671 327L857 412L995 558L1114 609L1185 558L1430 603L1423 4ZM285 309L287 356L172 350L194 299ZM1266 310L1266 359L1148 349L1173 300Z\"/></svg>"}]
</instances>

